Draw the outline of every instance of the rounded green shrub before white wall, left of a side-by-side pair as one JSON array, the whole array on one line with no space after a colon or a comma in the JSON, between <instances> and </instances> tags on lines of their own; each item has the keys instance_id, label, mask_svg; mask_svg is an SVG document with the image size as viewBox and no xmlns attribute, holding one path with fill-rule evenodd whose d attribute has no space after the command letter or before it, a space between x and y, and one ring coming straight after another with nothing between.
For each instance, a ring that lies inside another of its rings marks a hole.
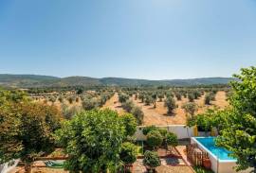
<instances>
[{"instance_id":1,"label":"rounded green shrub before white wall, left of a side-by-side pair","mask_svg":"<svg viewBox=\"0 0 256 173\"><path fill-rule=\"evenodd\" d=\"M163 143L163 137L158 130L152 130L147 134L147 145L151 148L160 147Z\"/></svg>"}]
</instances>

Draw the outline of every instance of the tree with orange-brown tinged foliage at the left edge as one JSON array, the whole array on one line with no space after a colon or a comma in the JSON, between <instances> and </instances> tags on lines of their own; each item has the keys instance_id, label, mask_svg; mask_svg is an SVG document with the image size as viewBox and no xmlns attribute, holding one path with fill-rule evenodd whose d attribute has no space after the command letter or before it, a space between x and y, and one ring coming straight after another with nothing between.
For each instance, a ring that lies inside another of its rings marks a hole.
<instances>
[{"instance_id":1,"label":"tree with orange-brown tinged foliage at the left edge","mask_svg":"<svg viewBox=\"0 0 256 173\"><path fill-rule=\"evenodd\" d=\"M34 157L54 147L61 114L55 107L30 102L21 92L1 90L0 102L0 164L20 158L30 172Z\"/></svg>"}]
</instances>

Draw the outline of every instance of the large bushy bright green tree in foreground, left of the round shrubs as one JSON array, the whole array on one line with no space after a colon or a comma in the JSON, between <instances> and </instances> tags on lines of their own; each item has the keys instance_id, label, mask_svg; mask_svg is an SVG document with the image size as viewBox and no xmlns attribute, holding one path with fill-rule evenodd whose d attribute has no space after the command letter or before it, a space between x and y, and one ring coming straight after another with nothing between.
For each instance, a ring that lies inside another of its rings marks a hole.
<instances>
[{"instance_id":1,"label":"large bushy bright green tree in foreground, left of the round shrubs","mask_svg":"<svg viewBox=\"0 0 256 173\"><path fill-rule=\"evenodd\" d=\"M65 121L57 132L58 140L69 155L65 166L73 172L115 172L125 139L125 127L118 112L92 110Z\"/></svg>"}]
</instances>

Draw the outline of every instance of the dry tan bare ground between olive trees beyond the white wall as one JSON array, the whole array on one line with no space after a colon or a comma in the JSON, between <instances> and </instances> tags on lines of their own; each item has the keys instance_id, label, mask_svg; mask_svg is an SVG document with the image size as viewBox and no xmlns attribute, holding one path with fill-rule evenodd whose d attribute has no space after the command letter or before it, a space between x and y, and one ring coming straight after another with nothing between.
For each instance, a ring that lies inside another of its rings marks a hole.
<instances>
[{"instance_id":1,"label":"dry tan bare ground between olive trees beyond the white wall","mask_svg":"<svg viewBox=\"0 0 256 173\"><path fill-rule=\"evenodd\" d=\"M218 92L216 95L216 101L212 101L210 106L206 106L204 104L204 95L194 102L198 105L198 112L205 112L209 108L220 108L224 109L229 106L228 101L226 100L225 92ZM178 108L175 110L174 114L167 114L167 108L164 107L164 102L156 102L156 108L151 106L145 106L144 103L141 103L139 99L135 100L133 97L133 101L137 104L137 106L141 107L144 112L144 125L157 125L157 126L165 126L165 125L184 125L186 124L186 113L181 109L182 105L188 102L188 98L182 98L180 101L176 101ZM114 95L110 100L107 101L103 108L110 108L111 110L115 110L118 112L124 112L120 108L118 94Z\"/></svg>"}]
</instances>

